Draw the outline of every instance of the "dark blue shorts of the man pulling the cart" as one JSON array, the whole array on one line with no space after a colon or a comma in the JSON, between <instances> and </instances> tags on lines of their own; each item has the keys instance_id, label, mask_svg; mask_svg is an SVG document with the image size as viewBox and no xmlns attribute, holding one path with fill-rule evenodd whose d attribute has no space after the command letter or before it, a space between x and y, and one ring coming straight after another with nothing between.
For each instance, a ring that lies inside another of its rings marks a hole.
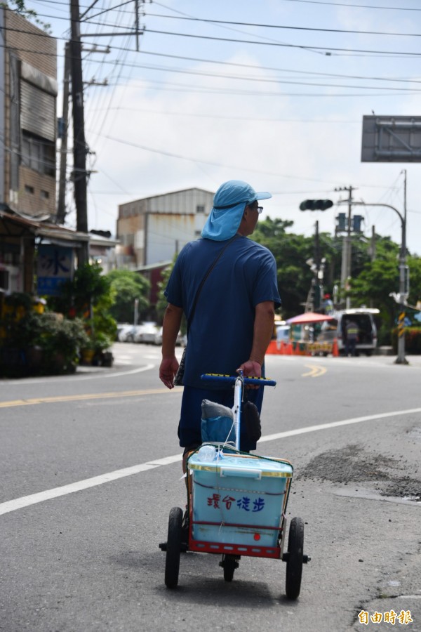
<instances>
[{"instance_id":1,"label":"dark blue shorts of the man pulling the cart","mask_svg":"<svg viewBox=\"0 0 421 632\"><path fill-rule=\"evenodd\" d=\"M262 409L263 391L263 386L244 391L245 399L253 402L258 407L259 414ZM208 388L195 388L194 386L184 387L180 423L178 424L178 438L180 439L181 447L196 449L196 447L201 445L202 400L210 400L210 402L217 402L232 408L234 406L234 388L229 390L211 390ZM248 438L244 424L240 428L240 449L243 452L256 449L256 442Z\"/></svg>"}]
</instances>

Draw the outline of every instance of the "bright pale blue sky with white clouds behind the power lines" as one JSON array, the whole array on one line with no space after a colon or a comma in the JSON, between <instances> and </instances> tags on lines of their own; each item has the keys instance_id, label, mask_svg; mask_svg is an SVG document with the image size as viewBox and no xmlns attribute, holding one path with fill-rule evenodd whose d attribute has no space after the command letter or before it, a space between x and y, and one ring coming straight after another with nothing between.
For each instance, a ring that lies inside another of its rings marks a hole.
<instances>
[{"instance_id":1,"label":"bright pale blue sky with white clouds behind the power lines","mask_svg":"<svg viewBox=\"0 0 421 632\"><path fill-rule=\"evenodd\" d=\"M264 216L293 220L291 230L304 235L314 234L316 220L333 232L345 209L302 212L300 202L338 202L347 193L335 189L351 185L356 200L403 212L406 170L407 243L421 254L420 163L361 163L364 114L421 114L421 5L393 4L148 1L136 51L133 34L121 34L133 32L133 2L81 0L82 13L91 6L84 47L97 46L83 53L84 80L97 83L85 89L89 228L114 235L118 204L188 187L215 191L238 178L273 193ZM61 88L69 5L27 6L58 38ZM375 226L400 243L394 211L356 206L354 213L364 217L367 237Z\"/></svg>"}]
</instances>

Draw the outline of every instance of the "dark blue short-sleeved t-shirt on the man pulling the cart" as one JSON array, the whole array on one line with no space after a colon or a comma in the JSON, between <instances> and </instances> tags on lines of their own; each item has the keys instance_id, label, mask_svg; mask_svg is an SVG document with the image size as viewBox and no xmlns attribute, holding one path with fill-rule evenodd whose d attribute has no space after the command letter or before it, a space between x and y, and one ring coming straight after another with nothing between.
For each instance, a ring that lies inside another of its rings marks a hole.
<instances>
[{"instance_id":1,"label":"dark blue short-sleeved t-shirt on the man pulling the cart","mask_svg":"<svg viewBox=\"0 0 421 632\"><path fill-rule=\"evenodd\" d=\"M187 320L204 275L226 244L197 239L180 252L164 294L168 303L184 310ZM203 388L203 373L235 374L250 357L255 306L263 301L281 304L274 256L265 246L236 237L210 272L196 303L188 332L185 385ZM215 388L220 389L220 383Z\"/></svg>"}]
</instances>

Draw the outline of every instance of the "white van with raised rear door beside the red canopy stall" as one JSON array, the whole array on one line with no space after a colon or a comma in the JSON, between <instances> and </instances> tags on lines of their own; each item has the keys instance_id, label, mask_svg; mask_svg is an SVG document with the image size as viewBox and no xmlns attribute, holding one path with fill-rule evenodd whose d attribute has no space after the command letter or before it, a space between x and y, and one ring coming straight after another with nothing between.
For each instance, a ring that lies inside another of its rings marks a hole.
<instances>
[{"instance_id":1,"label":"white van with raised rear door beside the red canopy stall","mask_svg":"<svg viewBox=\"0 0 421 632\"><path fill-rule=\"evenodd\" d=\"M356 343L356 355L365 353L371 355L377 347L377 327L374 322L374 315L380 314L380 310L371 308L355 308L333 312L333 320L326 320L321 324L320 334L317 342L338 341L338 351L345 353L345 326L349 320L353 320L359 329L358 341Z\"/></svg>"}]
</instances>

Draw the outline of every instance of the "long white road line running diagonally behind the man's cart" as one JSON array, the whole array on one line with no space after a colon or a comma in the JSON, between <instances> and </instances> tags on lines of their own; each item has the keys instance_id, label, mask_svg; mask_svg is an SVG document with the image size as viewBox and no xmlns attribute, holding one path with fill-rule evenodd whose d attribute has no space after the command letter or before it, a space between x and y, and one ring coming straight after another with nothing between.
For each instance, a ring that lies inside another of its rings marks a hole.
<instances>
[{"instance_id":1,"label":"long white road line running diagonally behind the man's cart","mask_svg":"<svg viewBox=\"0 0 421 632\"><path fill-rule=\"evenodd\" d=\"M349 426L352 423L362 423L364 421L374 421L375 419L387 419L387 417L396 417L401 415L410 415L414 413L420 413L421 408L411 408L408 410L398 410L389 413L380 413L377 415L366 415L363 417L354 417L354 419L343 419L342 421L333 421L331 423L319 423L316 426L307 426L307 428L298 428L297 430L286 430L283 433L276 433L274 435L266 435L260 438L260 442L275 441L277 439L283 439L285 437L294 437L295 435L305 435L306 433L314 433L318 430L327 430L328 428L339 428L340 426ZM85 480L79 480L69 485L63 485L62 487L54 487L53 489L46 489L45 492L39 492L37 494L30 494L29 496L22 496L11 501L0 503L0 515L4 513L10 513L17 509L29 507L36 503L41 503L53 498L59 498L60 496L67 496L73 492L80 492L82 489L88 489L89 487L96 487L97 485L103 485L103 483L117 480L119 478L125 478L126 476L132 476L133 474L139 474L147 470L159 468L161 466L170 465L171 463L177 463L181 461L181 454L174 454L173 456L164 456L163 459L155 459L154 461L147 461L147 463L140 463L137 466L130 468L123 468L122 470L114 470L107 474L101 474L94 476L93 478L86 478Z\"/></svg>"}]
</instances>

